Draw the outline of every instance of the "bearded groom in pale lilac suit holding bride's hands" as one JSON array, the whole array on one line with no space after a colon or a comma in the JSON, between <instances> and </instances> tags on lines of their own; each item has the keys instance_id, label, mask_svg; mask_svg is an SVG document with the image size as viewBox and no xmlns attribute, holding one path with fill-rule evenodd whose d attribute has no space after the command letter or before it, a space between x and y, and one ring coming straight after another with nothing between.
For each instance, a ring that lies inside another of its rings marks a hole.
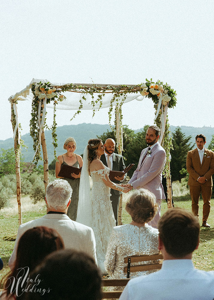
<instances>
[{"instance_id":1,"label":"bearded groom in pale lilac suit holding bride's hands","mask_svg":"<svg viewBox=\"0 0 214 300\"><path fill-rule=\"evenodd\" d=\"M157 228L160 219L161 201L165 199L162 186L162 171L166 163L166 152L158 143L160 128L152 125L147 128L146 142L148 147L143 149L139 159L138 167L128 182L130 189L144 188L156 196L159 210L153 220L148 224Z\"/></svg>"}]
</instances>

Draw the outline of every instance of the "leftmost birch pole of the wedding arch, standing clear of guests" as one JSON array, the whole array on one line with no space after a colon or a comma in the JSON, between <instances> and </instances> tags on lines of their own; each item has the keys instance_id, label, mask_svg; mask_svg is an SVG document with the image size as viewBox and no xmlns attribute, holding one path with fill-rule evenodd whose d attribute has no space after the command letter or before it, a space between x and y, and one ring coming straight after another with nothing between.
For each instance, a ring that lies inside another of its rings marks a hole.
<instances>
[{"instance_id":1,"label":"leftmost birch pole of the wedding arch, standing clear of guests","mask_svg":"<svg viewBox=\"0 0 214 300\"><path fill-rule=\"evenodd\" d=\"M13 127L13 132L15 131L16 127L16 117L13 110L13 102L11 101L11 123ZM16 104L15 104L16 108ZM16 112L17 113L17 112ZM18 118L17 118L18 121ZM19 225L22 224L22 204L21 204L21 176L20 176L20 164L19 164L19 128L16 129L16 136L14 139L14 151L16 156L16 199L18 203L18 221Z\"/></svg>"}]
</instances>

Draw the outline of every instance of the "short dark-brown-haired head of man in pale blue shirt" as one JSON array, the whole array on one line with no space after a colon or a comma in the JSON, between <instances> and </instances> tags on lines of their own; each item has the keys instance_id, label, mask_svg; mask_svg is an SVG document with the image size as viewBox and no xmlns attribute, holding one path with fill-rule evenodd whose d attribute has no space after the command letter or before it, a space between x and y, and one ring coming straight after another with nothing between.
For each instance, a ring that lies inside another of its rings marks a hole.
<instances>
[{"instance_id":1,"label":"short dark-brown-haired head of man in pale blue shirt","mask_svg":"<svg viewBox=\"0 0 214 300\"><path fill-rule=\"evenodd\" d=\"M170 208L158 223L159 250L171 259L192 258L198 248L200 225L192 212ZM165 258L164 259L170 259Z\"/></svg>"}]
</instances>

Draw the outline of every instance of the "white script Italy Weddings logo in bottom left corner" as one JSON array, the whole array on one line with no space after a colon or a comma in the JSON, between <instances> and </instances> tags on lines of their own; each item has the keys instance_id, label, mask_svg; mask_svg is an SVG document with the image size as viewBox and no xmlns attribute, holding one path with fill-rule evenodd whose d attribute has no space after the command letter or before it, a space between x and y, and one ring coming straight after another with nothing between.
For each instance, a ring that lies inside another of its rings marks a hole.
<instances>
[{"instance_id":1,"label":"white script Italy Weddings logo in bottom left corner","mask_svg":"<svg viewBox=\"0 0 214 300\"><path fill-rule=\"evenodd\" d=\"M7 277L4 283L4 288L7 289L10 287L10 293L14 294L16 292L16 297L21 296L24 292L31 292L31 293L40 293L44 295L45 293L50 292L50 288L47 289L40 288L39 284L43 281L41 280L40 274L38 274L34 279L29 277L29 268L19 268L17 269L18 274L16 278L14 276Z\"/></svg>"}]
</instances>

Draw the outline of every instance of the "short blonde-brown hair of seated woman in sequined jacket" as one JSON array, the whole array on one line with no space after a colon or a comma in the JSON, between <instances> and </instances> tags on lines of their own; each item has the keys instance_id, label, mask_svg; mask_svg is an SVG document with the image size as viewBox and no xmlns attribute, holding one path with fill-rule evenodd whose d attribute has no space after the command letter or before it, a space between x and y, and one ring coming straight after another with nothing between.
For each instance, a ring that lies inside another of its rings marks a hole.
<instances>
[{"instance_id":1,"label":"short blonde-brown hair of seated woman in sequined jacket","mask_svg":"<svg viewBox=\"0 0 214 300\"><path fill-rule=\"evenodd\" d=\"M134 222L151 221L158 211L155 195L144 188L135 190L126 203L126 211Z\"/></svg>"}]
</instances>

